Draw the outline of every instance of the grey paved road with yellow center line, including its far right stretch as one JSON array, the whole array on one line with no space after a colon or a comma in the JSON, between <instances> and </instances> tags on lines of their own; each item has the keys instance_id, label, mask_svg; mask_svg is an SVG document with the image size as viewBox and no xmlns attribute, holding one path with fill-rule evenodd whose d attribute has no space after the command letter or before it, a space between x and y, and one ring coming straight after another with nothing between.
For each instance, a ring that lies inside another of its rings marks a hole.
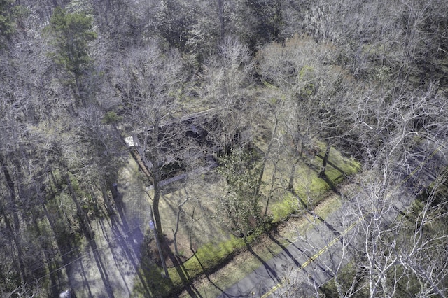
<instances>
[{"instance_id":1,"label":"grey paved road with yellow center line, including its far right stretch","mask_svg":"<svg viewBox=\"0 0 448 298\"><path fill-rule=\"evenodd\" d=\"M415 162L412 171L402 173L402 182L396 189L398 195L387 206L387 213L382 219L384 225L395 220L400 211L415 198L416 192L409 192L409 186L418 183L420 186L417 189L421 189L422 185L429 185L435 179L435 168L447 166L447 155L442 154L440 149L434 150L427 159ZM329 281L334 276L333 272L348 262L350 251L356 250L355 246L363 241L363 232L359 231L360 222L373 215L366 213L362 218L356 216L357 212L351 210L356 206L352 204L353 200L356 197L332 213L325 222L316 220L314 229L299 236L297 241L283 248L279 255L264 262L218 297L268 297L282 287L287 288L285 281L288 278L300 281L302 296L313 295L315 287ZM358 239L352 241L355 237Z\"/></svg>"}]
</instances>

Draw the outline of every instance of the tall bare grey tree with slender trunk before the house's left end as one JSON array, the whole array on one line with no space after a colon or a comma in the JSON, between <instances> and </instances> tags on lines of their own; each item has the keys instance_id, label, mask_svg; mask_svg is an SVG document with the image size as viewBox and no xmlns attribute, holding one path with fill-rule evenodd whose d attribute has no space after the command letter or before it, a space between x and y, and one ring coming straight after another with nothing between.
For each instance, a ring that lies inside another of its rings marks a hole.
<instances>
[{"instance_id":1,"label":"tall bare grey tree with slender trunk before the house's left end","mask_svg":"<svg viewBox=\"0 0 448 298\"><path fill-rule=\"evenodd\" d=\"M176 146L184 130L167 124L182 115L179 92L182 87L182 62L176 52L163 57L156 45L136 48L118 66L116 87L125 106L125 121L141 158L151 173L154 187L153 212L158 235L163 234L158 211L160 182L164 171L176 163ZM182 126L181 126L182 127Z\"/></svg>"}]
</instances>

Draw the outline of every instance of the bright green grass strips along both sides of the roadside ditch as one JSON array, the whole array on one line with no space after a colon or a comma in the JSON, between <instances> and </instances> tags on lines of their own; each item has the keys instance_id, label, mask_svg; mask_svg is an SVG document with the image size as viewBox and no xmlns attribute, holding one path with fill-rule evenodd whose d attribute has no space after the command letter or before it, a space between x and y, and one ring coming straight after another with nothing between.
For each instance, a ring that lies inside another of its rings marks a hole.
<instances>
[{"instance_id":1,"label":"bright green grass strips along both sides of the roadside ditch","mask_svg":"<svg viewBox=\"0 0 448 298\"><path fill-rule=\"evenodd\" d=\"M312 168L319 169L321 162L322 159L320 157L314 157L311 162L300 162L297 165L295 172L297 178L295 178L293 186L295 192L299 194L300 197L307 199L309 207L313 208L321 218L326 218L328 214L334 211L340 204L340 201L335 199L326 202L326 204L321 204L325 199L326 193L331 189L330 185L335 187L334 185L342 182L345 176L349 176L356 173L356 171L359 171L360 164L351 159L344 159L337 150L332 149L330 152L329 164L325 171L327 179L323 180L318 178L318 172L316 170L310 170L309 168L309 165L311 164ZM272 171L272 166L267 166L265 177L272 177ZM302 177L306 177L306 181L301 180ZM283 177L279 181L279 183L285 184L286 178ZM265 188L266 187L267 186L265 185ZM272 215L273 220L272 222L269 222L267 226L272 227L272 225L276 225L277 223L286 220L292 213L295 213L295 215L304 215L303 208L300 208L300 206L300 203L292 193L281 192L281 197L277 196L272 204L269 204L268 212ZM300 230L306 231L309 229L309 225L311 225L310 222L304 220L299 228ZM257 236L262 232L263 229L260 227L257 232L248 237L247 243L251 243L251 247L255 247L252 244L256 243ZM288 237L294 238L294 233L295 232L292 232ZM281 243L281 245L284 246L287 244L288 241ZM223 267L224 264L232 259L232 256L234 256L235 253L238 253L242 248L246 248L246 246L247 244L244 239L235 236L230 236L227 240L223 241L209 241L197 248L195 254L186 260L186 262L183 262L179 267L169 268L169 280L161 277L161 268L156 267L154 264L147 265L146 269L141 269L141 276L144 276L144 278L137 278L134 293L137 297L139 297L139 295L144 297L146 296L145 293L148 292L151 293L151 296L155 297L169 297L170 295L173 295L174 292L190 285L197 276L204 273L211 274L216 271L216 269ZM232 269L231 272L225 271L224 274L220 274L218 281L214 282L215 285L211 285L210 283L205 288L198 289L198 291L202 292L204 297L219 294L220 290L218 290L216 286L222 289L227 288L253 271L253 269L259 267L262 264L260 260L267 261L277 253L280 253L281 250L282 248L278 243L272 241L272 245L258 248L258 250L255 251L258 257L247 258L244 260L244 266ZM144 286L145 284L149 285L149 288L151 289L146 289ZM153 287L152 285L156 286ZM215 291L216 293L214 293Z\"/></svg>"}]
</instances>

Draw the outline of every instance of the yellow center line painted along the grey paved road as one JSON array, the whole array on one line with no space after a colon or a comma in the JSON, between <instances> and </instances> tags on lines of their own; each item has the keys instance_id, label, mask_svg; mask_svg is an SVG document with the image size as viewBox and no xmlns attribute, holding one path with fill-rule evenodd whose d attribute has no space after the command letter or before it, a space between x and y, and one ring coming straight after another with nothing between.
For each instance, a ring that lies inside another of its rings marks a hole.
<instances>
[{"instance_id":1,"label":"yellow center line painted along the grey paved road","mask_svg":"<svg viewBox=\"0 0 448 298\"><path fill-rule=\"evenodd\" d=\"M411 178L412 176L414 176L414 174L419 171L419 169L423 168L423 165L426 164L426 162L428 162L428 160L433 157L435 155L435 153L440 150L440 148L442 148L444 144L440 144L439 146L437 146L437 148L435 148L435 150L428 156L428 158L426 158L423 162L421 162L421 164L419 166L416 167L416 169L414 169L414 171L412 171L411 173L409 173L409 175L407 175L403 180L401 180L401 182L395 187L395 190L398 189L398 187L400 187L402 184L404 184L409 178ZM373 211L370 211L367 214L372 213ZM302 266L300 266L299 268L297 268L297 270L300 269L304 269L305 267L307 267L309 264L311 264L311 262L314 262L314 260L316 260L318 257L320 257L321 255L323 255L323 253L325 253L328 249L330 249L331 246L335 245L335 243L337 243L337 241L339 241L339 239L341 239L342 236L345 236L345 234L347 234L348 232L350 232L351 229L353 229L353 227L356 227L356 225L358 225L359 222L361 222L361 220L363 220L365 218L365 215L363 215L363 217L361 217L360 219L356 220L356 222L354 222L353 224L351 224L347 229L344 230L344 232L342 232L339 236L337 236L335 239L332 239L332 241L330 241L324 248L321 248L321 250L319 250L315 255L313 255L312 257L310 257L307 262L304 262L302 264ZM277 283L276 285L274 285L271 290L269 290L269 292L266 292L264 295L261 296L261 298L266 298L269 297L270 295L272 295L276 290L278 290L282 285L284 285L286 283L286 281L281 281L280 283Z\"/></svg>"}]
</instances>

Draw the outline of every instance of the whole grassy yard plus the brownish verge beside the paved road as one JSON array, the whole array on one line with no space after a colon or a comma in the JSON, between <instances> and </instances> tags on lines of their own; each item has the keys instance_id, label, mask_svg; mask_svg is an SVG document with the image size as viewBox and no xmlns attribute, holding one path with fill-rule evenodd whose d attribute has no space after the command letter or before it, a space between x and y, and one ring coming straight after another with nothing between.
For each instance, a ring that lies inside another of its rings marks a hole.
<instances>
[{"instance_id":1,"label":"whole grassy yard plus the brownish verge beside the paved road","mask_svg":"<svg viewBox=\"0 0 448 298\"><path fill-rule=\"evenodd\" d=\"M261 149L267 148L263 139L268 138L257 139L256 146ZM269 197L269 204L267 201L263 201L262 204L267 205L266 212L273 218L267 227L278 227L292 214L295 215L293 218L295 225L293 229L283 231L276 241L269 240L267 236L259 237L263 232L262 228L255 232L249 237L248 243L253 249L253 254L257 255L256 257L247 253L247 243L243 239L223 231L217 224L216 216L220 214L217 212L216 204L225 190L223 178L214 173L207 173L207 175L192 178L191 181L182 185L173 185L172 189L163 194L160 201L162 226L167 238L172 239L178 206L188 193L190 200L183 206L178 234L179 250L184 257L188 257L188 260L178 267L169 268L169 280L161 277L161 268L154 262L148 262L141 269L140 276L143 278L136 278L135 294L141 297L146 296L145 293L151 293L151 296L156 297L169 297L174 292L187 287L190 291L192 289L199 291L203 297L209 297L209 295L221 293L221 290L216 287L228 288L259 267L262 264L260 260L267 261L281 252L281 246L286 246L288 241L293 241L297 231L302 234L311 228L312 219L306 217L304 205L313 209L321 218L326 218L340 204L337 198L328 199L328 190L335 188L335 185L341 183L345 176L356 173L360 169L358 163L342 157L337 150L332 149L325 171L327 178L324 180L318 177L321 162L320 156L312 158L304 156L292 167L288 156L279 155L275 165L271 161L267 163L263 175L262 193L266 194L265 197ZM293 176L294 194L288 190L291 176ZM299 215L304 216L297 219ZM260 241L262 244L257 245ZM281 246L278 243L281 243ZM172 245L170 248L173 250ZM142 262L146 261L142 260ZM216 269L223 270L211 274ZM192 283L202 274L207 274L212 282L195 288Z\"/></svg>"}]
</instances>

